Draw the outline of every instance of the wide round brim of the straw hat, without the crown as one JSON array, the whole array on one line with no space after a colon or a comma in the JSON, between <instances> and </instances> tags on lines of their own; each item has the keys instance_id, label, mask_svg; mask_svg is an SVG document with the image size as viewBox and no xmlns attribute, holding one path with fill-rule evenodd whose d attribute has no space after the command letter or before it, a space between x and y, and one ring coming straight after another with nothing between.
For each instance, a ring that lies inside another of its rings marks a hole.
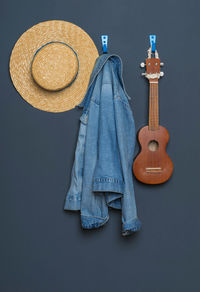
<instances>
[{"instance_id":1,"label":"wide round brim of the straw hat, without the crown","mask_svg":"<svg viewBox=\"0 0 200 292\"><path fill-rule=\"evenodd\" d=\"M36 84L31 75L35 52L49 42L64 42L77 53L79 72L67 88L50 92ZM24 32L10 57L10 75L19 94L33 107L48 112L64 112L78 105L87 90L97 48L90 36L75 24L60 20L38 23Z\"/></svg>"}]
</instances>

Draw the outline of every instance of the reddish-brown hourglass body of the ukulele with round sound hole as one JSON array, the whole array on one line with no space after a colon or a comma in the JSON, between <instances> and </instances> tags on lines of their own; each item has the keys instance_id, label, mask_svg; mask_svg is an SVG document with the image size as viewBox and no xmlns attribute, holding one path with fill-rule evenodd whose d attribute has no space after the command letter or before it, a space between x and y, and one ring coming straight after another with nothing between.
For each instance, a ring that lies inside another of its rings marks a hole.
<instances>
[{"instance_id":1,"label":"reddish-brown hourglass body of the ukulele with round sound hole","mask_svg":"<svg viewBox=\"0 0 200 292\"><path fill-rule=\"evenodd\" d=\"M173 163L166 152L169 133L166 128L150 130L149 126L140 129L138 140L141 152L133 164L136 178L146 184L161 184L173 172Z\"/></svg>"}]
</instances>

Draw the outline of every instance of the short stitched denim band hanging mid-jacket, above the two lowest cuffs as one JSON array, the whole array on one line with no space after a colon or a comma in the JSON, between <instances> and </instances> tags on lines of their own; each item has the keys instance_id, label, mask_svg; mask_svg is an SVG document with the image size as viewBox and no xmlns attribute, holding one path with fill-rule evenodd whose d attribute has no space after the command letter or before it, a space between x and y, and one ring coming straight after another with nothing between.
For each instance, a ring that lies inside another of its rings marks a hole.
<instances>
[{"instance_id":1,"label":"short stitched denim band hanging mid-jacket, above the two lowest cuffs","mask_svg":"<svg viewBox=\"0 0 200 292\"><path fill-rule=\"evenodd\" d=\"M117 178L96 177L92 185L93 192L124 193L124 183Z\"/></svg>"}]
</instances>

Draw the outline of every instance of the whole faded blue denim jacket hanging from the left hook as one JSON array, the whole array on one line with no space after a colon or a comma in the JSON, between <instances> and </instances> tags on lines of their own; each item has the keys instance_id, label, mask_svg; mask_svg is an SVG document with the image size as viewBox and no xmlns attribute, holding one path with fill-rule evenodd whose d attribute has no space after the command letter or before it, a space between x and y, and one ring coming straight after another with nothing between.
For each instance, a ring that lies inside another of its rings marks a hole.
<instances>
[{"instance_id":1,"label":"whole faded blue denim jacket hanging from the left hook","mask_svg":"<svg viewBox=\"0 0 200 292\"><path fill-rule=\"evenodd\" d=\"M132 163L135 124L119 56L103 54L95 64L83 102L65 210L80 210L83 228L98 228L108 207L121 209L122 235L137 231Z\"/></svg>"}]
</instances>

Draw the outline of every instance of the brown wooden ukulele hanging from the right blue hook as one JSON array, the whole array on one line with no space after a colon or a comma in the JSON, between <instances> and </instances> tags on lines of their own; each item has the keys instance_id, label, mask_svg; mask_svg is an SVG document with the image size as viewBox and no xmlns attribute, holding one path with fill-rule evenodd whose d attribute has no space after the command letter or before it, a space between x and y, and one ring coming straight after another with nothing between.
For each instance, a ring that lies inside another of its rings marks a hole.
<instances>
[{"instance_id":1,"label":"brown wooden ukulele hanging from the right blue hook","mask_svg":"<svg viewBox=\"0 0 200 292\"><path fill-rule=\"evenodd\" d=\"M133 172L136 178L145 184L161 184L166 182L173 172L173 163L166 152L169 133L159 125L158 108L158 80L164 75L160 72L160 63L157 50L148 50L148 58L141 67L146 67L142 73L149 80L149 125L140 129L138 140L141 151L133 163Z\"/></svg>"}]
</instances>

